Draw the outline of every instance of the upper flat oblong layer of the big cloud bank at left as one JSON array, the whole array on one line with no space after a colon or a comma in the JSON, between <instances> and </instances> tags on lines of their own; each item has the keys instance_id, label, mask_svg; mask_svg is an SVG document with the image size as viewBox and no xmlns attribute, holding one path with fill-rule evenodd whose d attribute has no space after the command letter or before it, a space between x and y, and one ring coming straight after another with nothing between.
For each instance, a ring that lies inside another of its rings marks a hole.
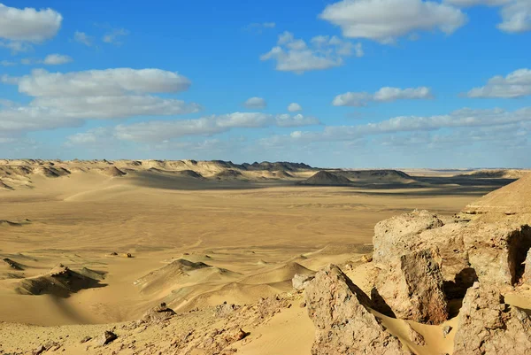
<instances>
[{"instance_id":1,"label":"upper flat oblong layer of the big cloud bank at left","mask_svg":"<svg viewBox=\"0 0 531 355\"><path fill-rule=\"evenodd\" d=\"M19 80L19 91L29 96L120 96L127 93L179 92L190 81L179 73L160 69L117 68L71 73L34 70Z\"/></svg>"}]
</instances>

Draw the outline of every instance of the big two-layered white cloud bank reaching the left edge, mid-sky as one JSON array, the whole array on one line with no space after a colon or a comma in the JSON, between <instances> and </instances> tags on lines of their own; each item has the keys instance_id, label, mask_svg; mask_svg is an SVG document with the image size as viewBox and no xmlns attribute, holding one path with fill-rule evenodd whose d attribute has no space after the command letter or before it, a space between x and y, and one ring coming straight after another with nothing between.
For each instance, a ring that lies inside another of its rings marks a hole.
<instances>
[{"instance_id":1,"label":"big two-layered white cloud bank reaching the left edge, mid-sky","mask_svg":"<svg viewBox=\"0 0 531 355\"><path fill-rule=\"evenodd\" d=\"M30 104L0 110L0 132L77 127L89 119L168 116L200 110L198 104L149 95L189 88L187 78L160 69L72 73L39 69L21 78L3 75L0 81L18 85L19 92L35 97Z\"/></svg>"}]
</instances>

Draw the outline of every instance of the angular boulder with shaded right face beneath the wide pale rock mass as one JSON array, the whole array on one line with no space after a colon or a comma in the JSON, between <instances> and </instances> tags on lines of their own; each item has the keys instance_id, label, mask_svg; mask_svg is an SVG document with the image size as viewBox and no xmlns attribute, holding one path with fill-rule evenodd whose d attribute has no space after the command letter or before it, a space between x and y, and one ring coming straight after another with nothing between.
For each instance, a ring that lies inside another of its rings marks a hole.
<instances>
[{"instance_id":1,"label":"angular boulder with shaded right face beneath the wide pale rock mass","mask_svg":"<svg viewBox=\"0 0 531 355\"><path fill-rule=\"evenodd\" d=\"M397 318L427 324L448 319L443 275L436 261L439 258L436 251L413 251L381 270L376 280L377 294ZM376 309L388 311L387 307Z\"/></svg>"}]
</instances>

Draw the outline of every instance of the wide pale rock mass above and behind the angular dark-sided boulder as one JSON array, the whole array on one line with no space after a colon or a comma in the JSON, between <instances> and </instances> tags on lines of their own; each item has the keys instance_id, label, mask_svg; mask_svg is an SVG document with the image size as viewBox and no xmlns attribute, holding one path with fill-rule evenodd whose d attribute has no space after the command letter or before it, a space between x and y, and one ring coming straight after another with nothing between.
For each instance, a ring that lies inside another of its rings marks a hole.
<instances>
[{"instance_id":1,"label":"wide pale rock mass above and behind the angular dark-sided boulder","mask_svg":"<svg viewBox=\"0 0 531 355\"><path fill-rule=\"evenodd\" d=\"M464 297L478 279L499 285L519 282L531 247L531 228L481 221L444 224L435 214L413 211L378 223L373 244L373 260L384 266L412 251L437 250L445 291L455 298Z\"/></svg>"}]
</instances>

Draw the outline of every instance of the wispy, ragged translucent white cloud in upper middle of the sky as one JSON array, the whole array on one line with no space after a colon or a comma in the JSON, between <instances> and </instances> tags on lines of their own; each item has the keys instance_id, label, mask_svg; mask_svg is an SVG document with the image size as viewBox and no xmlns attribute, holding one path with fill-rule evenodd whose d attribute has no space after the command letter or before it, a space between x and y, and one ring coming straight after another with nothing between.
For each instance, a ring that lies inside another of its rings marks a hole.
<instances>
[{"instance_id":1,"label":"wispy, ragged translucent white cloud in upper middle of the sky","mask_svg":"<svg viewBox=\"0 0 531 355\"><path fill-rule=\"evenodd\" d=\"M350 57L352 51L357 57L363 56L361 43L353 44L336 36L318 35L308 45L304 40L296 39L292 33L284 32L279 36L277 46L260 59L276 61L276 70L279 71L304 73L342 66L344 58Z\"/></svg>"}]
</instances>

